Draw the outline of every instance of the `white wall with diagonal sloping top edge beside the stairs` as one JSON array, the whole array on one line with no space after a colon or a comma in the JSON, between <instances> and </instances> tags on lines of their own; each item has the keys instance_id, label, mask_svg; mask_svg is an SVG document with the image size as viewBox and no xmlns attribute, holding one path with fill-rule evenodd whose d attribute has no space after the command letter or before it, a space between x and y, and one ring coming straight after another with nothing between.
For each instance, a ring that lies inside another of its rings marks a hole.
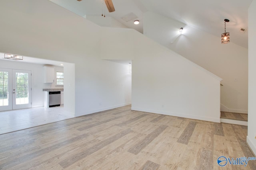
<instances>
[{"instance_id":1,"label":"white wall with diagonal sloping top edge beside the stairs","mask_svg":"<svg viewBox=\"0 0 256 170\"><path fill-rule=\"evenodd\" d=\"M220 78L139 33L134 38L132 109L220 122Z\"/></svg>"}]
</instances>

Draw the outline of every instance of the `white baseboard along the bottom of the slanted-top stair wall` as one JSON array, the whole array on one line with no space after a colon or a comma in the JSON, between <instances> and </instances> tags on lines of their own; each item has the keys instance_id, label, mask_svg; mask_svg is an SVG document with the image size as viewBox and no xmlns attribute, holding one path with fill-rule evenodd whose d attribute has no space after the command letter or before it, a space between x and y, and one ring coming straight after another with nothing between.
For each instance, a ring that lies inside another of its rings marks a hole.
<instances>
[{"instance_id":1,"label":"white baseboard along the bottom of the slanted-top stair wall","mask_svg":"<svg viewBox=\"0 0 256 170\"><path fill-rule=\"evenodd\" d=\"M203 116L197 116L197 115L187 115L187 114L182 114L182 113L174 113L171 111L142 109L142 108L137 108L137 107L132 107L132 110L220 123L220 118L203 117ZM219 113L218 113L218 115L219 115Z\"/></svg>"}]
</instances>

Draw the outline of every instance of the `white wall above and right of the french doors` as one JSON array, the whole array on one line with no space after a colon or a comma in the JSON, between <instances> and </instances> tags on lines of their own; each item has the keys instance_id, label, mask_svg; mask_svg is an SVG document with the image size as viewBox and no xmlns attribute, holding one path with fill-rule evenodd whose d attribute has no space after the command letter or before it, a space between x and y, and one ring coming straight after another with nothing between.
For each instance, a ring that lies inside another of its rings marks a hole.
<instances>
[{"instance_id":1,"label":"white wall above and right of the french doors","mask_svg":"<svg viewBox=\"0 0 256 170\"><path fill-rule=\"evenodd\" d=\"M32 107L44 107L44 69L42 64L0 60L0 68L31 70Z\"/></svg>"}]
</instances>

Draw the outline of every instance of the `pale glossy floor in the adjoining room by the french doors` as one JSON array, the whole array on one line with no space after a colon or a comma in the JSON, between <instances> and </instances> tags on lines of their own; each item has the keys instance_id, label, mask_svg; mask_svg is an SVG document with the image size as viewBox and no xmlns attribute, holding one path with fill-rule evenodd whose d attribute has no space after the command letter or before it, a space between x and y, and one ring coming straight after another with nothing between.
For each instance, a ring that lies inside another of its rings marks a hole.
<instances>
[{"instance_id":1,"label":"pale glossy floor in the adjoining room by the french doors","mask_svg":"<svg viewBox=\"0 0 256 170\"><path fill-rule=\"evenodd\" d=\"M73 117L74 114L65 111L63 106L0 111L0 134L70 119Z\"/></svg>"}]
</instances>

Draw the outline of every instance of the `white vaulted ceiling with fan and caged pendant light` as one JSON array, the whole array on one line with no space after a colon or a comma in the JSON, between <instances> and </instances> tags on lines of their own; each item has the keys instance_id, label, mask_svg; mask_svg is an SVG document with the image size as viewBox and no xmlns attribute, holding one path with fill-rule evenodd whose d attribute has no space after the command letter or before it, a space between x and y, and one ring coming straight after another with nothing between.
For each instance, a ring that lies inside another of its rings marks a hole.
<instances>
[{"instance_id":1,"label":"white vaulted ceiling with fan and caged pendant light","mask_svg":"<svg viewBox=\"0 0 256 170\"><path fill-rule=\"evenodd\" d=\"M50 1L80 16L102 14L102 0ZM218 37L224 33L224 19L229 19L230 22L226 23L226 31L230 32L230 42L248 48L247 12L252 0L112 0L112 2L116 11L109 13L106 9L106 16L111 16L141 33L143 33L143 14L147 11L156 12ZM139 25L121 19L131 12L138 16ZM245 33L240 33L241 28L246 29Z\"/></svg>"}]
</instances>

